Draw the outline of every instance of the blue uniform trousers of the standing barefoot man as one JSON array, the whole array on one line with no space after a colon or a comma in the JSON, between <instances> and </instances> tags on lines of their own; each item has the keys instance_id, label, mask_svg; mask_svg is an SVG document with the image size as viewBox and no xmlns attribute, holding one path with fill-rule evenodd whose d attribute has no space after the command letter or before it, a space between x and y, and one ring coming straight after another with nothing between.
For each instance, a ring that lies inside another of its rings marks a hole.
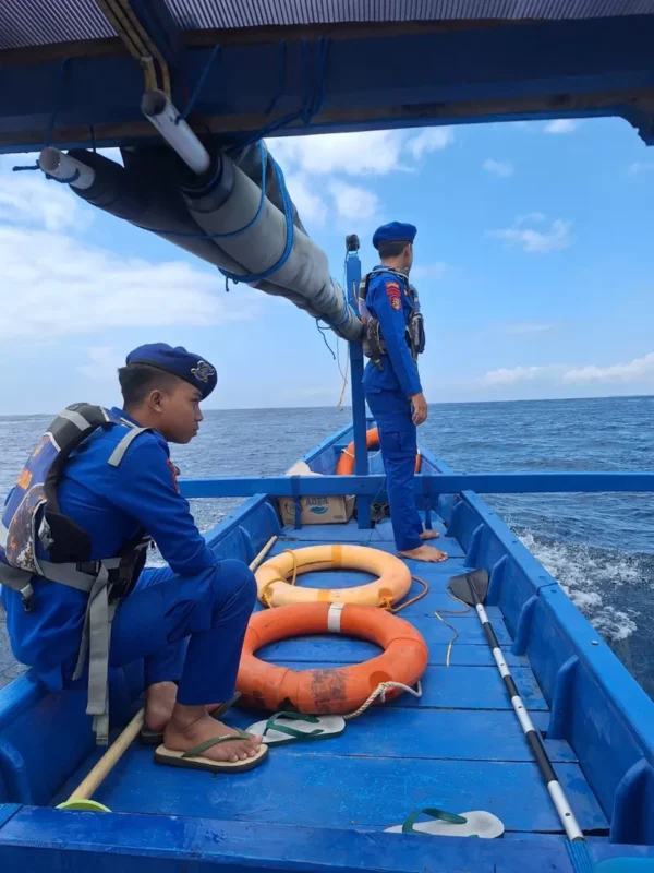
<instances>
[{"instance_id":1,"label":"blue uniform trousers of the standing barefoot man","mask_svg":"<svg viewBox=\"0 0 654 873\"><path fill-rule=\"evenodd\" d=\"M390 523L398 551L422 546L423 526L415 505L414 475L417 452L416 428L411 420L411 402L401 391L373 390L365 396L379 430L379 445L386 471Z\"/></svg>"}]
</instances>

